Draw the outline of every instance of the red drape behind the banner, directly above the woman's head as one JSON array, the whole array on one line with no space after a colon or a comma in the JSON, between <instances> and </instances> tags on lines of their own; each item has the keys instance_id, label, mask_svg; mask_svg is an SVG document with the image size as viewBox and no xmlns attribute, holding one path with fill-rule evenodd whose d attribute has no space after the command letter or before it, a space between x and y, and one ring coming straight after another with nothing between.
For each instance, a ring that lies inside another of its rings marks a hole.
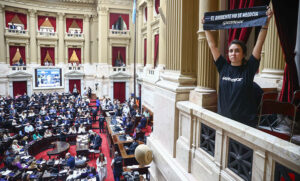
<instances>
[{"instance_id":1,"label":"red drape behind the banner, directly above the woman's head","mask_svg":"<svg viewBox=\"0 0 300 181\"><path fill-rule=\"evenodd\" d=\"M255 0L228 0L229 9L241 9L253 7ZM228 46L234 39L242 40L247 42L252 28L239 28L239 29L229 29L228 35Z\"/></svg>"}]
</instances>

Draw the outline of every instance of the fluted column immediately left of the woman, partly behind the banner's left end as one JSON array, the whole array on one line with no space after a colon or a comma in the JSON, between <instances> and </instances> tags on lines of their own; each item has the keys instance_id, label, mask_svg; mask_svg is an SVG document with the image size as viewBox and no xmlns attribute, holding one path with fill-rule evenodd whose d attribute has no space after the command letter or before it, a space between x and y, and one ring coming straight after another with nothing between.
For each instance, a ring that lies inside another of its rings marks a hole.
<instances>
[{"instance_id":1,"label":"fluted column immediately left of the woman, partly behind the banner's left end","mask_svg":"<svg viewBox=\"0 0 300 181\"><path fill-rule=\"evenodd\" d=\"M205 12L217 9L218 0L199 1L197 87L190 94L191 102L211 110L216 110L217 105L216 68L201 20ZM216 42L218 42L216 37L215 35Z\"/></svg>"}]
</instances>

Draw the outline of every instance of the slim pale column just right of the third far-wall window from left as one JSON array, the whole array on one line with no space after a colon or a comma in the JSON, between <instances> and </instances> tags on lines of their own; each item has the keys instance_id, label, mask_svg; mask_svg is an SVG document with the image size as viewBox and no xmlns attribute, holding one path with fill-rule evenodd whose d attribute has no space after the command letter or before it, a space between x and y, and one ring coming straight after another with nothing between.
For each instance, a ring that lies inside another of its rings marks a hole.
<instances>
[{"instance_id":1,"label":"slim pale column just right of the third far-wall window from left","mask_svg":"<svg viewBox=\"0 0 300 181\"><path fill-rule=\"evenodd\" d=\"M84 59L82 63L90 62L90 15L84 15Z\"/></svg>"}]
</instances>

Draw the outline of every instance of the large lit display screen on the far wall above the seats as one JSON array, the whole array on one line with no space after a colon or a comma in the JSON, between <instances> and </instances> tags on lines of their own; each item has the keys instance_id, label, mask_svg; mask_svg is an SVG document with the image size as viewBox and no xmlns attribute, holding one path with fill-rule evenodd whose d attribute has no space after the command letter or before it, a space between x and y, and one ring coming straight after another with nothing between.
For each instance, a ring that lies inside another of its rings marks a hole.
<instances>
[{"instance_id":1,"label":"large lit display screen on the far wall above the seats","mask_svg":"<svg viewBox=\"0 0 300 181\"><path fill-rule=\"evenodd\" d=\"M55 88L62 86L62 74L60 68L35 69L35 87L38 88Z\"/></svg>"}]
</instances>

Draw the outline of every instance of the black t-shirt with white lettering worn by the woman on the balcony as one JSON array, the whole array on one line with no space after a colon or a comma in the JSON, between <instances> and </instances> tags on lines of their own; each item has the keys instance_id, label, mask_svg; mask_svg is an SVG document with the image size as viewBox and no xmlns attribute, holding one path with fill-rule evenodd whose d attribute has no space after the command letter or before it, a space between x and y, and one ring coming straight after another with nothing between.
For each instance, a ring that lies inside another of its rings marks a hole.
<instances>
[{"instance_id":1,"label":"black t-shirt with white lettering worn by the woman on the balcony","mask_svg":"<svg viewBox=\"0 0 300 181\"><path fill-rule=\"evenodd\" d=\"M245 65L232 66L220 56L215 64L220 74L218 113L243 123L255 119L257 107L252 89L259 60L251 55Z\"/></svg>"}]
</instances>

